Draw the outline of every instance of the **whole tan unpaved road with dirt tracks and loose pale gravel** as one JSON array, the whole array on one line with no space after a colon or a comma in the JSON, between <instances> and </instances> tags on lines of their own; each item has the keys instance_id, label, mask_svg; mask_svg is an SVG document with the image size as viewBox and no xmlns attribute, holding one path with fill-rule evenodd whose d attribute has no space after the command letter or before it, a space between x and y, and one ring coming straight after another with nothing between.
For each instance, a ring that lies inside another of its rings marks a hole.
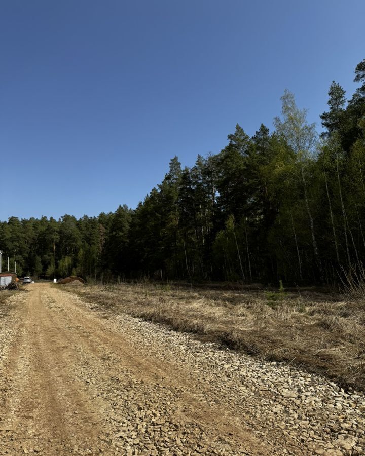
<instances>
[{"instance_id":1,"label":"whole tan unpaved road with dirt tracks and loose pale gravel","mask_svg":"<svg viewBox=\"0 0 365 456\"><path fill-rule=\"evenodd\" d=\"M51 284L6 310L0 454L362 454L360 393L102 313Z\"/></svg>"}]
</instances>

